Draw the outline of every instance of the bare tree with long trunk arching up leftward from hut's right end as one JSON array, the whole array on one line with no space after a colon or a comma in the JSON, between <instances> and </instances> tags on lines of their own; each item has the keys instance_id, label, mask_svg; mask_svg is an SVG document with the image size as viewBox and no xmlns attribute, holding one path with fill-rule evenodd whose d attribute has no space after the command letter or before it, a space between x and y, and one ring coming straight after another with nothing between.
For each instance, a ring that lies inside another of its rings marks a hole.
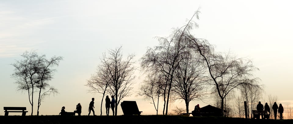
<instances>
[{"instance_id":1,"label":"bare tree with long trunk arching up leftward from hut's right end","mask_svg":"<svg viewBox=\"0 0 293 124\"><path fill-rule=\"evenodd\" d=\"M210 75L210 84L217 89L221 99L222 115L224 114L224 99L234 89L253 76L253 71L259 70L253 66L251 60L247 58L235 58L231 53L222 55L215 53L214 48L206 40L194 38L190 35L190 41L206 62ZM224 116L224 115L223 115Z\"/></svg>"}]
</instances>

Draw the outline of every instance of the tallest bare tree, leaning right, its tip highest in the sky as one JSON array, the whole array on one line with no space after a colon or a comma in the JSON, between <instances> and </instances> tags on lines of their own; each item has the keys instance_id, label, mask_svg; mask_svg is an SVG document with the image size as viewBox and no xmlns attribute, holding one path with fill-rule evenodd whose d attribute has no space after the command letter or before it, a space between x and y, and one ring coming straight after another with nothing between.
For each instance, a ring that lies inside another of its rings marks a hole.
<instances>
[{"instance_id":1,"label":"tallest bare tree, leaning right, its tip highest in the sky","mask_svg":"<svg viewBox=\"0 0 293 124\"><path fill-rule=\"evenodd\" d=\"M199 11L194 15L198 18ZM193 25L194 24L194 25ZM143 71L160 71L165 76L165 88L163 89L164 108L163 115L168 114L168 104L170 100L171 88L174 86L173 78L176 68L179 66L189 47L188 39L184 33L197 26L196 23L187 24L183 27L174 29L174 32L167 38L157 37L160 41L159 46L147 48L147 52L141 58L141 68Z\"/></svg>"}]
</instances>

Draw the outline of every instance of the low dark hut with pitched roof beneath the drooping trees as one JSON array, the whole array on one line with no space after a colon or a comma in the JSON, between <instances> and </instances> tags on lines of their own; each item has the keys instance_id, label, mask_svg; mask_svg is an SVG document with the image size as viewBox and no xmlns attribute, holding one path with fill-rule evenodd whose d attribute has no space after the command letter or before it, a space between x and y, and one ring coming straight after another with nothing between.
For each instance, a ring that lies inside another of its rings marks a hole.
<instances>
[{"instance_id":1,"label":"low dark hut with pitched roof beneath the drooping trees","mask_svg":"<svg viewBox=\"0 0 293 124\"><path fill-rule=\"evenodd\" d=\"M226 110L224 110L224 113ZM221 108L207 105L201 108L200 113L192 113L193 116L222 116Z\"/></svg>"}]
</instances>

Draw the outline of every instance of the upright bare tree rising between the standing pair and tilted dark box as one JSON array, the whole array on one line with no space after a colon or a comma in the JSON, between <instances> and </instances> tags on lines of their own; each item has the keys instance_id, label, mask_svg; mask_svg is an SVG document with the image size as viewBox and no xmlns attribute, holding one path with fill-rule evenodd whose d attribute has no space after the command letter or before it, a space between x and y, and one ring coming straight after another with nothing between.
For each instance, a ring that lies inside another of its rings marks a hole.
<instances>
[{"instance_id":1,"label":"upright bare tree rising between the standing pair and tilted dark box","mask_svg":"<svg viewBox=\"0 0 293 124\"><path fill-rule=\"evenodd\" d=\"M136 67L133 66L135 55L128 54L127 58L123 60L122 46L117 47L115 50L109 50L109 56L106 53L103 55L102 64L106 72L109 74L109 88L107 89L110 94L115 97L115 115L117 115L117 107L119 102L128 96L132 95L134 71ZM119 99L118 99L119 98Z\"/></svg>"}]
</instances>

